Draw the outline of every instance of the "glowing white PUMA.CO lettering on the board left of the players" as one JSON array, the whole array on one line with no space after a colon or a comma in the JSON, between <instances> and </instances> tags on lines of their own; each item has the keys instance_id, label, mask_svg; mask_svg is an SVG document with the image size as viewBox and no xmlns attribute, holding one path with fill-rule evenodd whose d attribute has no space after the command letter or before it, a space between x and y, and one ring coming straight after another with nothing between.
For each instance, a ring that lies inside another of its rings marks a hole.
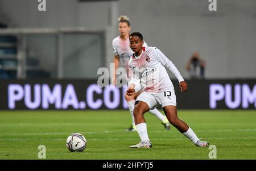
<instances>
[{"instance_id":1,"label":"glowing white PUMA.CO lettering on the board left of the players","mask_svg":"<svg viewBox=\"0 0 256 171\"><path fill-rule=\"evenodd\" d=\"M19 106L24 104L27 109L40 107L49 109L50 105L54 105L55 109L86 109L86 106L90 109L99 109L102 106L107 109L116 109L121 101L125 101L123 94L127 89L127 86L120 91L113 85L102 88L97 84L91 84L84 90L84 101L79 101L72 84L68 84L64 91L63 87L64 85L60 84L55 84L52 88L48 84L10 84L8 85L8 107L19 109L16 107L19 102ZM127 109L126 101L122 102L122 106Z\"/></svg>"}]
</instances>

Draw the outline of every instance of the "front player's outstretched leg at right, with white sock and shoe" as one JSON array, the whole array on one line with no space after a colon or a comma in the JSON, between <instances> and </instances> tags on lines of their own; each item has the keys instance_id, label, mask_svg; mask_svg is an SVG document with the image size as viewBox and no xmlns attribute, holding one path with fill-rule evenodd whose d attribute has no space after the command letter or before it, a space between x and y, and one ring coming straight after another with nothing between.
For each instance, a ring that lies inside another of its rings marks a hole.
<instances>
[{"instance_id":1,"label":"front player's outstretched leg at right, with white sock and shoe","mask_svg":"<svg viewBox=\"0 0 256 171\"><path fill-rule=\"evenodd\" d=\"M195 145L199 147L207 147L209 143L207 141L201 141L195 134L195 132L181 119L177 117L177 107L168 105L163 107L170 123L177 128L183 135L188 137Z\"/></svg>"}]
</instances>

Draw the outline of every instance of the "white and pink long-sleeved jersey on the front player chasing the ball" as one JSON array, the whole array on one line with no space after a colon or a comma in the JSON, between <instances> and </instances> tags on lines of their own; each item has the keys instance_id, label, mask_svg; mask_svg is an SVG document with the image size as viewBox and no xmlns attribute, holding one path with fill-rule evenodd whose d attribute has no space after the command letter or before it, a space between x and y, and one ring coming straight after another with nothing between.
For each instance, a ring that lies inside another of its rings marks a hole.
<instances>
[{"instance_id":1,"label":"white and pink long-sleeved jersey on the front player chasing the ball","mask_svg":"<svg viewBox=\"0 0 256 171\"><path fill-rule=\"evenodd\" d=\"M174 88L164 66L167 66L179 82L184 81L179 70L158 48L143 47L139 57L133 55L129 66L137 79L141 80L142 90L161 93Z\"/></svg>"}]
</instances>

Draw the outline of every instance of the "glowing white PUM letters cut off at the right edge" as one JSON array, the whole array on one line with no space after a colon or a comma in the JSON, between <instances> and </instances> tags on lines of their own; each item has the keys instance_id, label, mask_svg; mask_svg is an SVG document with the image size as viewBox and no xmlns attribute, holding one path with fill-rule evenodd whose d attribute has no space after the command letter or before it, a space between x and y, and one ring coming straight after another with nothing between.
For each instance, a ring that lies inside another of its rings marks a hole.
<instances>
[{"instance_id":1,"label":"glowing white PUM letters cut off at the right edge","mask_svg":"<svg viewBox=\"0 0 256 171\"><path fill-rule=\"evenodd\" d=\"M247 109L249 104L253 103L256 108L256 84L253 90L250 90L250 86L247 84L242 84L242 86L236 84L234 89L230 84L211 84L209 86L209 105L211 109L216 109L217 101L222 101L224 98L225 105L230 109L237 109L240 106Z\"/></svg>"}]
</instances>

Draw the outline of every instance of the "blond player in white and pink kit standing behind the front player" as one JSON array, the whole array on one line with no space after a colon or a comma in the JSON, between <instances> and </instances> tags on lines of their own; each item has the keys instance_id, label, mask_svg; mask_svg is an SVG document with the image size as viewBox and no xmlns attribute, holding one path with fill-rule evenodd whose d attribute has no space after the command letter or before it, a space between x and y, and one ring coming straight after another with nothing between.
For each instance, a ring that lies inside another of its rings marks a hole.
<instances>
[{"instance_id":1,"label":"blond player in white and pink kit standing behind the front player","mask_svg":"<svg viewBox=\"0 0 256 171\"><path fill-rule=\"evenodd\" d=\"M112 41L112 45L113 45L113 49L114 49L114 76L112 79L112 84L116 85L116 74L115 71L118 68L119 65L119 61L121 60L121 64L123 66L123 68L126 69L126 73L127 73L127 84L129 85L129 87L135 87L135 86L139 86L140 83L138 82L139 80L134 80L132 75L132 72L130 71L129 68L129 60L130 57L133 55L133 51L131 51L130 47L129 47L129 36L130 36L130 22L129 22L129 18L127 18L127 16L121 15L118 18L119 24L118 24L118 30L120 35L115 37ZM144 43L144 45L147 46L146 43ZM131 114L131 126L127 129L127 131L136 131L136 127L135 127L135 122L134 122L134 116L133 116L133 110L134 110L134 102L136 97L138 97L140 92L134 94L134 95L126 95L125 94L125 99L127 101L127 105L129 107L129 111ZM166 130L170 130L170 123L168 122L168 119L166 118L166 116L164 116L159 110L154 109L154 110L150 110L149 111L151 114L155 115L157 118L159 118L162 122L162 124L164 125L164 127L166 128Z\"/></svg>"}]
</instances>

